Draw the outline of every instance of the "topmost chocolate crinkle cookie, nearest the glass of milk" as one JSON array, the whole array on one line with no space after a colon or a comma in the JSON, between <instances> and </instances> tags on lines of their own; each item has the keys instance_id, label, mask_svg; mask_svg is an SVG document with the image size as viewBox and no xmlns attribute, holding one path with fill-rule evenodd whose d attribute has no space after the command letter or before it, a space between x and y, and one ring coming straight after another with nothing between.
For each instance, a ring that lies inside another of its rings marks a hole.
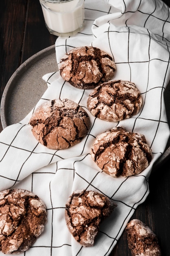
<instances>
[{"instance_id":1,"label":"topmost chocolate crinkle cookie, nearest the glass of milk","mask_svg":"<svg viewBox=\"0 0 170 256\"><path fill-rule=\"evenodd\" d=\"M66 53L58 65L65 81L79 89L92 89L111 79L116 71L112 57L92 46L77 47Z\"/></svg>"}]
</instances>

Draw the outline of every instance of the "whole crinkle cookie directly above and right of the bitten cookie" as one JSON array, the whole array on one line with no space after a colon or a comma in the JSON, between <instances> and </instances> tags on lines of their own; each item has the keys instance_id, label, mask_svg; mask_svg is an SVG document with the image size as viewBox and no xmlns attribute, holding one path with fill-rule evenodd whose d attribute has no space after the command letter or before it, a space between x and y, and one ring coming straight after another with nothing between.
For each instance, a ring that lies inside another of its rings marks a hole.
<instances>
[{"instance_id":1,"label":"whole crinkle cookie directly above and right of the bitten cookie","mask_svg":"<svg viewBox=\"0 0 170 256\"><path fill-rule=\"evenodd\" d=\"M148 167L152 151L144 135L115 127L96 137L91 156L105 173L113 177L127 177Z\"/></svg>"}]
</instances>

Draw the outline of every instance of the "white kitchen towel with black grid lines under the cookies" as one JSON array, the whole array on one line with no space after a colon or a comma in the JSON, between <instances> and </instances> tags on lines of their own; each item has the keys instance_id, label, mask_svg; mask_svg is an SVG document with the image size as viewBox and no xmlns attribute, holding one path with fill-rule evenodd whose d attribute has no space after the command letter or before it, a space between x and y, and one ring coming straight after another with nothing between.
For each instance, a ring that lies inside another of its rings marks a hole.
<instances>
[{"instance_id":1,"label":"white kitchen towel with black grid lines under the cookies","mask_svg":"<svg viewBox=\"0 0 170 256\"><path fill-rule=\"evenodd\" d=\"M58 63L65 52L83 45L110 54L116 63L113 80L132 81L142 94L143 106L137 115L116 123L95 118L86 104L91 90L74 88L54 70L44 74L48 88L35 108L54 98L77 102L91 120L87 136L67 150L42 146L28 124L35 109L0 133L0 190L28 189L47 207L44 233L22 256L108 256L137 206L146 200L152 166L164 152L170 135L163 99L170 80L169 11L161 0L85 0L83 31L56 40ZM89 152L96 135L115 126L144 134L152 148L153 159L139 175L114 178L91 159ZM103 193L117 204L100 226L93 247L78 244L65 224L65 202L77 189Z\"/></svg>"}]
</instances>

